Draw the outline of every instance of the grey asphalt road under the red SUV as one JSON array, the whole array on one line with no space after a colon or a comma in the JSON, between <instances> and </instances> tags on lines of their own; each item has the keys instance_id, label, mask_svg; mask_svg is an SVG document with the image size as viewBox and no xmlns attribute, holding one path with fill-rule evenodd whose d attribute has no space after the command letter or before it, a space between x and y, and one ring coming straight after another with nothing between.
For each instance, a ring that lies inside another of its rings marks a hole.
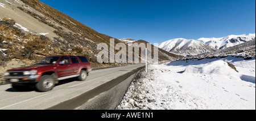
<instances>
[{"instance_id":1,"label":"grey asphalt road under the red SUV","mask_svg":"<svg viewBox=\"0 0 256 121\"><path fill-rule=\"evenodd\" d=\"M10 84L0 86L0 110L2 109L76 109L90 98L99 96L123 81L144 64L105 68L90 72L85 81L64 80L49 92L14 92ZM120 81L120 82L119 82ZM87 95L86 95L87 94ZM86 97L86 98L84 98ZM78 101L78 102L76 102ZM63 107L67 106L67 107ZM59 108L61 109L61 108Z\"/></svg>"}]
</instances>

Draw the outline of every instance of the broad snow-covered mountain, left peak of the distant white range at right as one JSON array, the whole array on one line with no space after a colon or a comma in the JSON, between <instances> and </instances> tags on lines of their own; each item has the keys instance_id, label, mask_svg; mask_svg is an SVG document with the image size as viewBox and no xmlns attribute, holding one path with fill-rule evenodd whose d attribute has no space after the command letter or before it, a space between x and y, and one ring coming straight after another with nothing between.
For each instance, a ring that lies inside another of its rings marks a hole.
<instances>
[{"instance_id":1,"label":"broad snow-covered mountain, left peak of the distant white range at right","mask_svg":"<svg viewBox=\"0 0 256 121\"><path fill-rule=\"evenodd\" d=\"M214 50L203 42L197 40L187 40L185 38L175 38L162 42L159 48L175 54L197 55L202 53L211 53Z\"/></svg>"}]
</instances>

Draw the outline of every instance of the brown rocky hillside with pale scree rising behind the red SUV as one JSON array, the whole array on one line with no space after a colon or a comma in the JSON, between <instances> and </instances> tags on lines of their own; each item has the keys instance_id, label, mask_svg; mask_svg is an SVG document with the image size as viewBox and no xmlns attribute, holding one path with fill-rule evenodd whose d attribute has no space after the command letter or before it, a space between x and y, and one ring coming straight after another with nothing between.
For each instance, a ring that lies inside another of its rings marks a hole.
<instances>
[{"instance_id":1,"label":"brown rocky hillside with pale scree rising behind the red SUV","mask_svg":"<svg viewBox=\"0 0 256 121\"><path fill-rule=\"evenodd\" d=\"M17 61L20 64L16 65L24 66L49 55L85 55L93 68L120 66L97 62L101 51L97 44L109 46L110 38L114 37L98 33L38 0L0 0L0 80ZM114 42L122 41L114 38Z\"/></svg>"}]
</instances>

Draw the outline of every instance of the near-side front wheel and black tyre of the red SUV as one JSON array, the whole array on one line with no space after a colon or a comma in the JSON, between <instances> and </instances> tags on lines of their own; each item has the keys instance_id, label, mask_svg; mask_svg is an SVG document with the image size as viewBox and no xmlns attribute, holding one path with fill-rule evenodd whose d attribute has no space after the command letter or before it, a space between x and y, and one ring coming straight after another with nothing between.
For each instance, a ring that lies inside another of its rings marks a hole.
<instances>
[{"instance_id":1,"label":"near-side front wheel and black tyre of the red SUV","mask_svg":"<svg viewBox=\"0 0 256 121\"><path fill-rule=\"evenodd\" d=\"M43 75L40 77L38 83L36 83L36 89L40 92L47 92L52 90L55 86L55 81L52 76L50 75Z\"/></svg>"}]
</instances>

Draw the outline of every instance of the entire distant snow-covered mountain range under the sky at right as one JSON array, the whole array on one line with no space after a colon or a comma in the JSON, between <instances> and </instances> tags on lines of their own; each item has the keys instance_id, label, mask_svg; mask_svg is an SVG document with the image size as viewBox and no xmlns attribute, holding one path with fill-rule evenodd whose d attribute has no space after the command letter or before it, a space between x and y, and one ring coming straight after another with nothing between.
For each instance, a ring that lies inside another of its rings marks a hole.
<instances>
[{"instance_id":1,"label":"entire distant snow-covered mountain range under the sky at right","mask_svg":"<svg viewBox=\"0 0 256 121\"><path fill-rule=\"evenodd\" d=\"M255 33L242 35L229 35L220 38L199 38L197 40L187 40L185 38L175 38L159 44L159 48L170 53L180 55L198 55L212 53L216 50L226 49L253 40Z\"/></svg>"}]
</instances>

